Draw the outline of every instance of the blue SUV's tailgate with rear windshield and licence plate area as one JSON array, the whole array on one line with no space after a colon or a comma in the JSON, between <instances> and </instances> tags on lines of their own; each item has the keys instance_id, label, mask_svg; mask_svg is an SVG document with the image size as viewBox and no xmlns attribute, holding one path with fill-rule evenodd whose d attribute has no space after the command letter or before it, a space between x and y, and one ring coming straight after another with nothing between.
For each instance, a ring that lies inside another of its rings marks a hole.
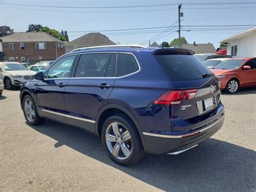
<instances>
[{"instance_id":1,"label":"blue SUV's tailgate with rear windshield and licence plate area","mask_svg":"<svg viewBox=\"0 0 256 192\"><path fill-rule=\"evenodd\" d=\"M171 118L186 120L216 109L220 102L218 79L195 56L161 54L155 57L177 86L177 91L196 92L191 99L184 99L170 107Z\"/></svg>"}]
</instances>

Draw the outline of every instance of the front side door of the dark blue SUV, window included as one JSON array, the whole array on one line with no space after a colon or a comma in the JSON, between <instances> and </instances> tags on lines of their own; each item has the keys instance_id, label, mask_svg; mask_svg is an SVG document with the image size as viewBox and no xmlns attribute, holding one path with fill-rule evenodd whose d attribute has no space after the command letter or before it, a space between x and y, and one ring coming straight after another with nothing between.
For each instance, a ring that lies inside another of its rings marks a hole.
<instances>
[{"instance_id":1,"label":"front side door of the dark blue SUV, window included","mask_svg":"<svg viewBox=\"0 0 256 192\"><path fill-rule=\"evenodd\" d=\"M64 91L75 60L76 55L61 58L45 73L44 81L36 84L36 100L43 116L65 122Z\"/></svg>"}]
</instances>

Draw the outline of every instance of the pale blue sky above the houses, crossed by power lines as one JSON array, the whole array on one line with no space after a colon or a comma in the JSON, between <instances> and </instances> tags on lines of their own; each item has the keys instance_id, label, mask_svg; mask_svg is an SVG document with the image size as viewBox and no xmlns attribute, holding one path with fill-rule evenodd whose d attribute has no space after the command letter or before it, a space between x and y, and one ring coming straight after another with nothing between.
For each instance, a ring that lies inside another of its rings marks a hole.
<instances>
[{"instance_id":1,"label":"pale blue sky above the houses, crossed by power lines","mask_svg":"<svg viewBox=\"0 0 256 192\"><path fill-rule=\"evenodd\" d=\"M133 31L105 31L113 29L155 28L177 26L178 5L148 6L132 8L99 8L104 6L140 6L154 4L184 3L181 22L181 35L189 43L211 42L217 48L221 39L252 26L232 27L195 27L204 25L252 25L256 24L256 4L188 4L188 3L256 3L255 0L0 0L0 26L6 25L15 31L26 31L29 24L42 24L61 31L102 31L113 42L120 44L145 44L148 40L157 43L170 42L178 37L177 28L156 28ZM186 4L187 3L187 4ZM12 4L12 5L11 5ZM13 5L13 4L26 4ZM61 6L45 7L45 6ZM88 8L88 7L97 8ZM69 7L69 8L67 8ZM73 8L71 8L73 7ZM80 8L74 8L80 7ZM176 23L175 23L176 22ZM192 26L192 27L189 27ZM225 30L224 30L225 29ZM166 31L164 31L166 30ZM163 32L164 31L164 32ZM85 32L68 33L70 40L84 35ZM129 33L129 34L125 34ZM158 35L158 36L157 36ZM156 38L154 38L156 36Z\"/></svg>"}]
</instances>

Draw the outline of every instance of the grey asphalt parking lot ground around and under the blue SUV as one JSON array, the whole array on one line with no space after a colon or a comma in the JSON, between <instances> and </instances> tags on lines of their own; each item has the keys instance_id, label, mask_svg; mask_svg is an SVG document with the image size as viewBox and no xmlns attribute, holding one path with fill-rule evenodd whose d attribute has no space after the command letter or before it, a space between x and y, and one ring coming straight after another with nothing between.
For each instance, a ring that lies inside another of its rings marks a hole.
<instances>
[{"instance_id":1,"label":"grey asphalt parking lot ground around and under the blue SUV","mask_svg":"<svg viewBox=\"0 0 256 192\"><path fill-rule=\"evenodd\" d=\"M179 156L122 167L99 138L47 120L26 124L19 90L0 97L0 191L256 191L256 89L221 95L225 124Z\"/></svg>"}]
</instances>

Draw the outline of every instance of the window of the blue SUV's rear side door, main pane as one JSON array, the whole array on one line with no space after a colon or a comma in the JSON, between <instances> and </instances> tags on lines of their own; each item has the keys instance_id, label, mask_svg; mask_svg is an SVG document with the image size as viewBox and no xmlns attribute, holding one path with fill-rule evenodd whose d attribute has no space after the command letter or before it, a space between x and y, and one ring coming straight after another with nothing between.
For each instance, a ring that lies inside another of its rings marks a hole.
<instances>
[{"instance_id":1,"label":"window of the blue SUV's rear side door, main pane","mask_svg":"<svg viewBox=\"0 0 256 192\"><path fill-rule=\"evenodd\" d=\"M104 77L111 53L81 54L75 77Z\"/></svg>"}]
</instances>

